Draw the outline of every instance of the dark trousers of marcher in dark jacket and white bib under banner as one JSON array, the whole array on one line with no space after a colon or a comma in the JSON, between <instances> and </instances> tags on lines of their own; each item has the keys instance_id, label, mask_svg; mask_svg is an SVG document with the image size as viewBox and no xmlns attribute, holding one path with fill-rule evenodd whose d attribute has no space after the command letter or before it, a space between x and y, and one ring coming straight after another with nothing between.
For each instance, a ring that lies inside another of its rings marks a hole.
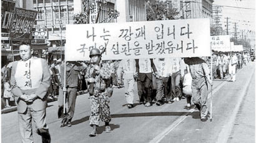
<instances>
[{"instance_id":1,"label":"dark trousers of marcher in dark jacket and white bib under banner","mask_svg":"<svg viewBox=\"0 0 256 143\"><path fill-rule=\"evenodd\" d=\"M145 76L144 81L138 80L138 95L140 102L151 102L152 80Z\"/></svg>"}]
</instances>

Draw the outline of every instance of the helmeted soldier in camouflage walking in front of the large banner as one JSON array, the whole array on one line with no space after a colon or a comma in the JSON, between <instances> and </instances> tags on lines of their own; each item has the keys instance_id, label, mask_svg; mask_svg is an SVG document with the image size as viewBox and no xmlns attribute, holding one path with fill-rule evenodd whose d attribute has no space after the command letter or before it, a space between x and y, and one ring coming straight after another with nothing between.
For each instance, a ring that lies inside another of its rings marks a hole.
<instances>
[{"instance_id":1,"label":"helmeted soldier in camouflage walking in front of the large banner","mask_svg":"<svg viewBox=\"0 0 256 143\"><path fill-rule=\"evenodd\" d=\"M105 122L105 131L111 131L109 126L111 121L109 98L112 96L113 88L111 71L108 71L111 67L109 67L109 64L101 65L101 55L102 53L97 48L90 51L91 62L86 71L86 81L91 101L89 124L92 131L89 134L90 137L96 136L100 119Z\"/></svg>"}]
</instances>

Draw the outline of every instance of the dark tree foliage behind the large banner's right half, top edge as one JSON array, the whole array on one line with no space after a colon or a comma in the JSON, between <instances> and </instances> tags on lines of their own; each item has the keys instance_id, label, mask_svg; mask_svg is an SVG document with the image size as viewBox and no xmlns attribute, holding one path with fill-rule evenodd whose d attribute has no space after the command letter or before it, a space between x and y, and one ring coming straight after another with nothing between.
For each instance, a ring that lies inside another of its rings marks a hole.
<instances>
[{"instance_id":1,"label":"dark tree foliage behind the large banner's right half, top edge","mask_svg":"<svg viewBox=\"0 0 256 143\"><path fill-rule=\"evenodd\" d=\"M175 19L179 14L177 9L170 6L169 1L147 1L146 4L147 21L157 21L165 19Z\"/></svg>"}]
</instances>

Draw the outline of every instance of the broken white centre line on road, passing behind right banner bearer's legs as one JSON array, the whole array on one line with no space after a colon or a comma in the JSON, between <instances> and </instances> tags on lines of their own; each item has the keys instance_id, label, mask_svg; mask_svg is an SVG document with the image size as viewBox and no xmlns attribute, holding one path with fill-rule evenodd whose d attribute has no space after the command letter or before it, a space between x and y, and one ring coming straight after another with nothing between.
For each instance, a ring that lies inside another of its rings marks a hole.
<instances>
[{"instance_id":1,"label":"broken white centre line on road, passing behind right banner bearer's legs","mask_svg":"<svg viewBox=\"0 0 256 143\"><path fill-rule=\"evenodd\" d=\"M214 88L214 90L212 90L212 95L214 95L214 93L216 93L217 91L219 91L220 88L222 88L222 86L225 85L227 81L222 82L220 85L218 85L216 88ZM210 93L208 95L208 98L210 97ZM158 143L160 142L162 139L164 139L164 137L169 134L169 132L171 132L173 129L175 129L175 127L177 127L180 122L184 121L184 119L186 119L190 113L193 113L195 111L195 109L190 109L189 113L185 113L184 115L180 116L178 119L176 119L172 124L170 124L170 126L168 126L164 131L162 131L160 134L158 134L156 137L154 137L154 139L152 139L149 143Z\"/></svg>"}]
</instances>

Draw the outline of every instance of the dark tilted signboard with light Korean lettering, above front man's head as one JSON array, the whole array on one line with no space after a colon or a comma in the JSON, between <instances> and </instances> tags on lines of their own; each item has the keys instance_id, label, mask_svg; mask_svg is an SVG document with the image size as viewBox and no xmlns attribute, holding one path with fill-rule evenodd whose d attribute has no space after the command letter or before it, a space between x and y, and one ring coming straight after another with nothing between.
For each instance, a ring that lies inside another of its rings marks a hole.
<instances>
[{"instance_id":1,"label":"dark tilted signboard with light Korean lettering, above front man's head","mask_svg":"<svg viewBox=\"0 0 256 143\"><path fill-rule=\"evenodd\" d=\"M31 30L37 11L16 7L12 14L12 22L9 29L11 39L32 39Z\"/></svg>"}]
</instances>

